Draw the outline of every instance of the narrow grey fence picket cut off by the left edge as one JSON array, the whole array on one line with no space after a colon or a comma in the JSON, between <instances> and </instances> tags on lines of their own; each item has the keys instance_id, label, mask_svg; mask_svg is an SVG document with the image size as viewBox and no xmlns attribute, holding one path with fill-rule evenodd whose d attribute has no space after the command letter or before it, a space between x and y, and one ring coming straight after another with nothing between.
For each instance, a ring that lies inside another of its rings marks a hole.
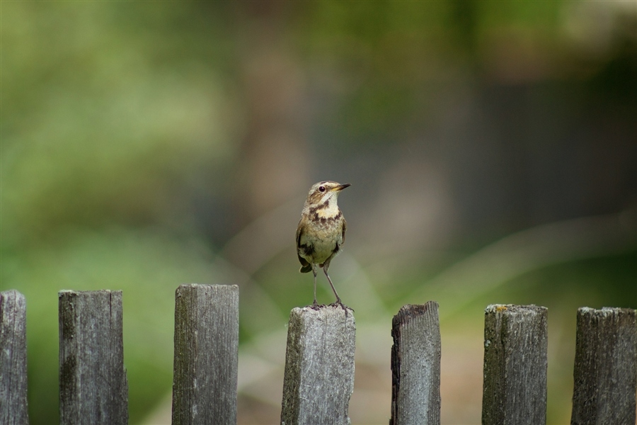
<instances>
[{"instance_id":1,"label":"narrow grey fence picket cut off by the left edge","mask_svg":"<svg viewBox=\"0 0 637 425\"><path fill-rule=\"evenodd\" d=\"M28 423L26 302L7 290L0 293L0 424Z\"/></svg>"}]
</instances>

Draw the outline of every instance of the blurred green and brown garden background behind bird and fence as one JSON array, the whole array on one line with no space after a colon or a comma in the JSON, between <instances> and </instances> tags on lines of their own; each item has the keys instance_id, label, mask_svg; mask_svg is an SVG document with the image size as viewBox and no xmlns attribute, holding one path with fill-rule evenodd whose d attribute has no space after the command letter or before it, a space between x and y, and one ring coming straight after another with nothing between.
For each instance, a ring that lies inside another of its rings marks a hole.
<instances>
[{"instance_id":1,"label":"blurred green and brown garden background behind bird and fence","mask_svg":"<svg viewBox=\"0 0 637 425\"><path fill-rule=\"evenodd\" d=\"M239 284L239 423L277 422L324 179L352 183L331 267L352 423L389 418L403 304L440 303L444 424L480 423L488 304L549 307L549 424L577 307L637 307L634 1L3 1L0 31L0 283L27 299L32 424L58 421L62 289L124 291L130 423L169 423L180 283Z\"/></svg>"}]
</instances>

